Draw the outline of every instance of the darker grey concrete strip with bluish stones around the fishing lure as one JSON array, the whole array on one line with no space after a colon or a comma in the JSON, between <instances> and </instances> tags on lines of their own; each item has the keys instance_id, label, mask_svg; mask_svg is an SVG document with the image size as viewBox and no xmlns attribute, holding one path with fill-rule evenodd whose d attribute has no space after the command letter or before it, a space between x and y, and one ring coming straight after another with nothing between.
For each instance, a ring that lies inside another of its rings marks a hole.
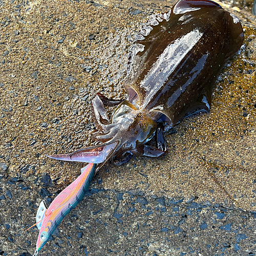
<instances>
[{"instance_id":1,"label":"darker grey concrete strip with bluish stones around the fishing lure","mask_svg":"<svg viewBox=\"0 0 256 256\"><path fill-rule=\"evenodd\" d=\"M13 194L1 200L1 252L29 255L38 231L35 227L27 232L24 229L34 223L31 216L43 197L37 192L40 186L32 188L27 183L30 188L23 190L19 185L24 181L12 182L0 180L1 194ZM139 191L121 194L105 190L95 180L88 196L62 221L41 254L253 255L253 212L197 203L196 198L142 197ZM50 202L53 198L45 199Z\"/></svg>"}]
</instances>

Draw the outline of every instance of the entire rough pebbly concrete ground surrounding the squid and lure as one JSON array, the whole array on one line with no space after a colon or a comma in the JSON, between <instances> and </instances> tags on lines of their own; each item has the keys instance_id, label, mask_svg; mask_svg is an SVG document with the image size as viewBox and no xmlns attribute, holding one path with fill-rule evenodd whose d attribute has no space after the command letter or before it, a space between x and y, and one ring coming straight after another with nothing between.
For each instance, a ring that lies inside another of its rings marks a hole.
<instances>
[{"instance_id":1,"label":"entire rough pebbly concrete ground surrounding the squid and lure","mask_svg":"<svg viewBox=\"0 0 256 256\"><path fill-rule=\"evenodd\" d=\"M90 145L90 100L122 98L127 52L171 1L1 2L0 255L30 255L40 201L82 167L45 154ZM102 167L41 255L254 255L255 20L215 86L211 112L167 134L169 154ZM111 109L109 113L111 113Z\"/></svg>"}]
</instances>

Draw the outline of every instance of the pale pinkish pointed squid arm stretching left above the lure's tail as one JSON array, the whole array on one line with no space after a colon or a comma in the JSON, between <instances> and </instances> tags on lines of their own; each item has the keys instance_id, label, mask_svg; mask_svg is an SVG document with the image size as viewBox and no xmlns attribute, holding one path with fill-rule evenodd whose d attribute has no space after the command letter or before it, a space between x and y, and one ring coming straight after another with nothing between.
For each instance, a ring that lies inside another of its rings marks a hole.
<instances>
[{"instance_id":1,"label":"pale pinkish pointed squid arm stretching left above the lure's tail","mask_svg":"<svg viewBox=\"0 0 256 256\"><path fill-rule=\"evenodd\" d=\"M107 161L115 152L118 141L112 143L105 143L98 146L90 146L82 148L71 154L51 155L47 157L72 162L86 162L86 163L102 163Z\"/></svg>"}]
</instances>

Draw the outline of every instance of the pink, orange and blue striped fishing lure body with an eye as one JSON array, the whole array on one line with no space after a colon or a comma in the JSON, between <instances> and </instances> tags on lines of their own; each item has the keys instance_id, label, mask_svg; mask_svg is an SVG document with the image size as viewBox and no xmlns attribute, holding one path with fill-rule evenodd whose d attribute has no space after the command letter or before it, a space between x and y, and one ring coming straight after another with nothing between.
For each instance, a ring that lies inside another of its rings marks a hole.
<instances>
[{"instance_id":1,"label":"pink, orange and blue striped fishing lure body with an eye","mask_svg":"<svg viewBox=\"0 0 256 256\"><path fill-rule=\"evenodd\" d=\"M83 167L81 169L81 171L83 170L82 174L62 190L50 204L45 212L45 217L41 220L36 250L33 256L37 255L44 247L63 218L81 202L92 181L95 168L95 163L89 163L86 167Z\"/></svg>"}]
</instances>

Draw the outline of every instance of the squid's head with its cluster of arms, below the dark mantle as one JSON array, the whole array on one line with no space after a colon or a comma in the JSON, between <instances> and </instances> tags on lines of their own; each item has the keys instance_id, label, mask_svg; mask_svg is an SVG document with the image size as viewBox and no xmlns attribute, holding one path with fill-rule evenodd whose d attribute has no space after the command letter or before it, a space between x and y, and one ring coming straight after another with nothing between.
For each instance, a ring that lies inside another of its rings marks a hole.
<instances>
[{"instance_id":1,"label":"squid's head with its cluster of arms, below the dark mantle","mask_svg":"<svg viewBox=\"0 0 256 256\"><path fill-rule=\"evenodd\" d=\"M167 153L163 127L155 121L159 115L140 108L137 95L132 96L134 100L115 100L98 93L91 102L97 129L92 136L100 144L71 154L48 157L62 161L98 163L98 170L110 158L116 165L120 165L133 155L159 157ZM104 105L117 105L111 118L106 114ZM154 135L157 135L156 147L145 145Z\"/></svg>"}]
</instances>

